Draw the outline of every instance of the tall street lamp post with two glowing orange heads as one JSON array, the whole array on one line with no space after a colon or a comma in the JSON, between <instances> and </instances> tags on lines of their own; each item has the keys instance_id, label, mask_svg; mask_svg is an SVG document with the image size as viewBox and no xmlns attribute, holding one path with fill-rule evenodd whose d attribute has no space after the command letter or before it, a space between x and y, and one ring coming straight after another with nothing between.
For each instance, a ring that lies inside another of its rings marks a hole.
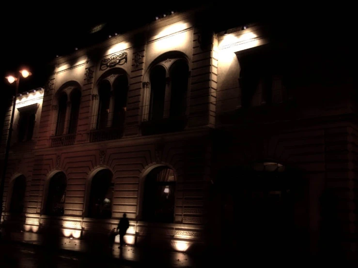
<instances>
[{"instance_id":1,"label":"tall street lamp post with two glowing orange heads","mask_svg":"<svg viewBox=\"0 0 358 268\"><path fill-rule=\"evenodd\" d=\"M5 148L5 158L4 158L4 164L3 164L3 168L2 168L2 176L1 176L1 183L0 183L0 222L1 222L1 217L2 217L2 203L3 203L3 194L4 194L4 184L5 184L5 177L6 177L6 168L7 168L7 161L9 159L9 151L10 151L10 144L11 144L11 135L13 133L13 122L14 122L14 115L15 115L15 106L16 106L16 98L17 98L17 91L18 91L18 85L20 83L20 76L22 75L22 77L26 78L29 75L31 75L31 73L27 70L22 70L19 72L19 74L17 75L17 77L9 75L6 76L5 78L7 79L7 81L12 84L16 81L16 86L15 86L15 97L14 97L14 103L13 103L13 110L11 113L11 119L10 119L10 128L9 128L9 135L7 137L7 142L6 142L6 148Z\"/></svg>"}]
</instances>

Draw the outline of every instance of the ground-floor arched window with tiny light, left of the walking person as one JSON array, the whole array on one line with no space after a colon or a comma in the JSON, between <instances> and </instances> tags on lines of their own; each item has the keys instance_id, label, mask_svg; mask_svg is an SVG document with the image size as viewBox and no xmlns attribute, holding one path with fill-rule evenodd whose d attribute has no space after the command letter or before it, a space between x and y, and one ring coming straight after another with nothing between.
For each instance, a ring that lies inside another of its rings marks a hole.
<instances>
[{"instance_id":1,"label":"ground-floor arched window with tiny light, left of the walking person","mask_svg":"<svg viewBox=\"0 0 358 268\"><path fill-rule=\"evenodd\" d=\"M89 217L109 219L112 216L112 177L112 172L109 169L102 169L94 175L91 185Z\"/></svg>"}]
</instances>

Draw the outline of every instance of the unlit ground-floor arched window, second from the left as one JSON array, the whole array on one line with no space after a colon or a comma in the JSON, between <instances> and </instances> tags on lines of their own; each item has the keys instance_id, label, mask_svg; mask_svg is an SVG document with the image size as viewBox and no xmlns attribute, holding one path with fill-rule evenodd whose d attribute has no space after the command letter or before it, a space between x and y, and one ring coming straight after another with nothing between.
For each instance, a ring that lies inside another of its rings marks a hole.
<instances>
[{"instance_id":1,"label":"unlit ground-floor arched window, second from the left","mask_svg":"<svg viewBox=\"0 0 358 268\"><path fill-rule=\"evenodd\" d=\"M64 201L66 197L67 180L63 172L57 172L52 176L48 186L46 214L62 216L64 213Z\"/></svg>"}]
</instances>

